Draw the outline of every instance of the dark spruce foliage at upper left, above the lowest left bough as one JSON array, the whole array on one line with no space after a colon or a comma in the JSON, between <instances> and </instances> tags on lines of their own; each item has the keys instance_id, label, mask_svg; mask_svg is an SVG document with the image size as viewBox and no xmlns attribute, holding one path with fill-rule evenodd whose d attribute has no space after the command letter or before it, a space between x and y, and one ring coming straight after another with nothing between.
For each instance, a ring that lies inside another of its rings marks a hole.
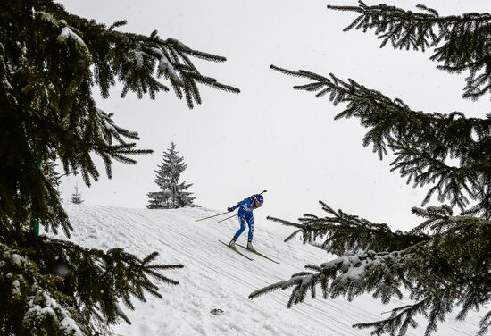
<instances>
[{"instance_id":1,"label":"dark spruce foliage at upper left, above the lowest left bough","mask_svg":"<svg viewBox=\"0 0 491 336\"><path fill-rule=\"evenodd\" d=\"M31 204L37 217L70 230L54 201L54 189L36 168L37 161L58 158L65 172L81 173L89 185L99 176L89 153L104 159L111 176L112 160L134 164L128 155L150 152L126 142L138 139L137 133L117 127L112 113L96 107L93 85L108 97L118 79L124 86L123 96L131 89L140 97L146 93L154 97L166 88L154 79L154 70L161 64L158 72L169 79L178 97L186 97L190 107L201 101L197 83L238 92L201 75L189 58L222 62L223 57L190 49L174 39L107 29L48 0L8 0L4 8L0 14L0 154L5 164L0 171L0 206L2 214L11 218L13 214L28 217L24 205ZM56 207L51 216L46 204Z\"/></svg>"}]
</instances>

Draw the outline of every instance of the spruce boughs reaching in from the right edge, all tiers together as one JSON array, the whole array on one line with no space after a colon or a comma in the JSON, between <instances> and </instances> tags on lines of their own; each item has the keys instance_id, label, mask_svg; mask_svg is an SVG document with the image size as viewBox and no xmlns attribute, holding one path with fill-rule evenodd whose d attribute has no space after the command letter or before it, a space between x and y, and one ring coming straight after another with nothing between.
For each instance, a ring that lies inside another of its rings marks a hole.
<instances>
[{"instance_id":1,"label":"spruce boughs reaching in from the right edge, all tiers together","mask_svg":"<svg viewBox=\"0 0 491 336\"><path fill-rule=\"evenodd\" d=\"M450 73L467 71L463 98L476 100L491 93L491 15L469 13L439 16L418 5L418 12L384 4L330 6L357 13L345 29L374 29L381 46L433 50L431 60ZM389 98L355 80L312 71L289 71L308 83L295 89L328 96L334 105L346 105L336 120L358 118L368 129L363 146L373 146L380 159L392 152L392 171L414 187L427 187L425 206L434 195L439 206L413 207L423 221L411 231L392 231L387 223L372 223L357 215L335 211L320 202L325 216L304 214L299 223L270 220L296 228L304 242L320 240L321 247L339 256L321 265L305 265L287 281L254 291L255 298L271 290L292 289L287 307L316 295L352 299L371 293L387 303L409 293L413 303L397 307L381 321L362 321L357 328L372 334L404 335L417 325L413 317L428 320L425 335L458 307L458 319L471 309L485 309L479 335L491 326L491 114L469 118L464 113L414 111L399 98ZM453 160L450 160L453 159ZM405 289L405 290L403 290ZM487 305L487 306L486 306Z\"/></svg>"}]
</instances>

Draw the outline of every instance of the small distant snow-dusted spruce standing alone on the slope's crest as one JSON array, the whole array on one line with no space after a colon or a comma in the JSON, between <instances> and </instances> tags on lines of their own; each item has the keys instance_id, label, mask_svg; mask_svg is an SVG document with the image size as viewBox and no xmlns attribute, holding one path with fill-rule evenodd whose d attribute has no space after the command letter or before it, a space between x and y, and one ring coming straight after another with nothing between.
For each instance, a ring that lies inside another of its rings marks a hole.
<instances>
[{"instance_id":1,"label":"small distant snow-dusted spruce standing alone on the slope's crest","mask_svg":"<svg viewBox=\"0 0 491 336\"><path fill-rule=\"evenodd\" d=\"M167 152L163 153L162 164L158 165L158 170L155 172L157 176L155 183L161 189L160 191L149 192L148 205L149 209L176 209L183 206L193 206L193 200L196 198L187 189L192 184L180 182L180 174L187 168L184 164L184 156L179 156L174 142Z\"/></svg>"}]
</instances>

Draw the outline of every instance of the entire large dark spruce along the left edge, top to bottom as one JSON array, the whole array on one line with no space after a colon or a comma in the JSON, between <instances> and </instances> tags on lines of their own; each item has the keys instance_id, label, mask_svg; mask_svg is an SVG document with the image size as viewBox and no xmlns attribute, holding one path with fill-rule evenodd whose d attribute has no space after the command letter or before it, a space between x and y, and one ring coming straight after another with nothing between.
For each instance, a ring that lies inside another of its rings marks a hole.
<instances>
[{"instance_id":1,"label":"entire large dark spruce along the left edge, top to bottom","mask_svg":"<svg viewBox=\"0 0 491 336\"><path fill-rule=\"evenodd\" d=\"M147 294L162 297L154 281L177 284L157 253L139 257L121 248L83 248L68 240L38 236L62 230L70 237L56 183L43 167L62 164L88 185L99 172L93 154L112 176L113 160L135 164L137 132L97 107L92 90L109 97L121 82L121 97L173 90L191 108L201 103L198 84L230 92L198 71L192 58L225 58L194 50L176 39L121 31L68 13L52 0L4 0L0 11L0 334L95 335L126 321L120 303ZM161 80L159 80L159 78ZM54 179L56 180L56 179ZM59 273L62 264L68 272ZM162 312L163 314L163 312ZM164 314L163 314L164 315Z\"/></svg>"}]
</instances>

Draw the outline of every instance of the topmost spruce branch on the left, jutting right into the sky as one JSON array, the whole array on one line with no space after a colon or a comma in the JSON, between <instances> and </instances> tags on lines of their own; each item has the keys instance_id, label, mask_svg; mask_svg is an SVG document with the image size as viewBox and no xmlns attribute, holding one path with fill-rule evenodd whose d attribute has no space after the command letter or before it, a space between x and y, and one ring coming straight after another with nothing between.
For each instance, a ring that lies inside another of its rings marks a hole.
<instances>
[{"instance_id":1,"label":"topmost spruce branch on the left, jutting right into the sky","mask_svg":"<svg viewBox=\"0 0 491 336\"><path fill-rule=\"evenodd\" d=\"M170 82L176 97L186 97L189 108L201 104L198 83L239 92L238 88L201 74L190 59L196 57L220 63L226 61L225 57L192 49L175 38L162 39L156 30L146 36L114 29L125 21L116 22L108 29L104 24L66 13L60 6L52 13L37 13L51 22L54 29L61 30L57 35L60 43L74 41L77 46L74 51L80 52L80 58L87 66L94 65L94 77L103 97L109 97L114 76L123 84L121 97L133 91L140 98L145 94L154 98L159 91L168 91L169 88L158 80L163 76Z\"/></svg>"}]
</instances>

